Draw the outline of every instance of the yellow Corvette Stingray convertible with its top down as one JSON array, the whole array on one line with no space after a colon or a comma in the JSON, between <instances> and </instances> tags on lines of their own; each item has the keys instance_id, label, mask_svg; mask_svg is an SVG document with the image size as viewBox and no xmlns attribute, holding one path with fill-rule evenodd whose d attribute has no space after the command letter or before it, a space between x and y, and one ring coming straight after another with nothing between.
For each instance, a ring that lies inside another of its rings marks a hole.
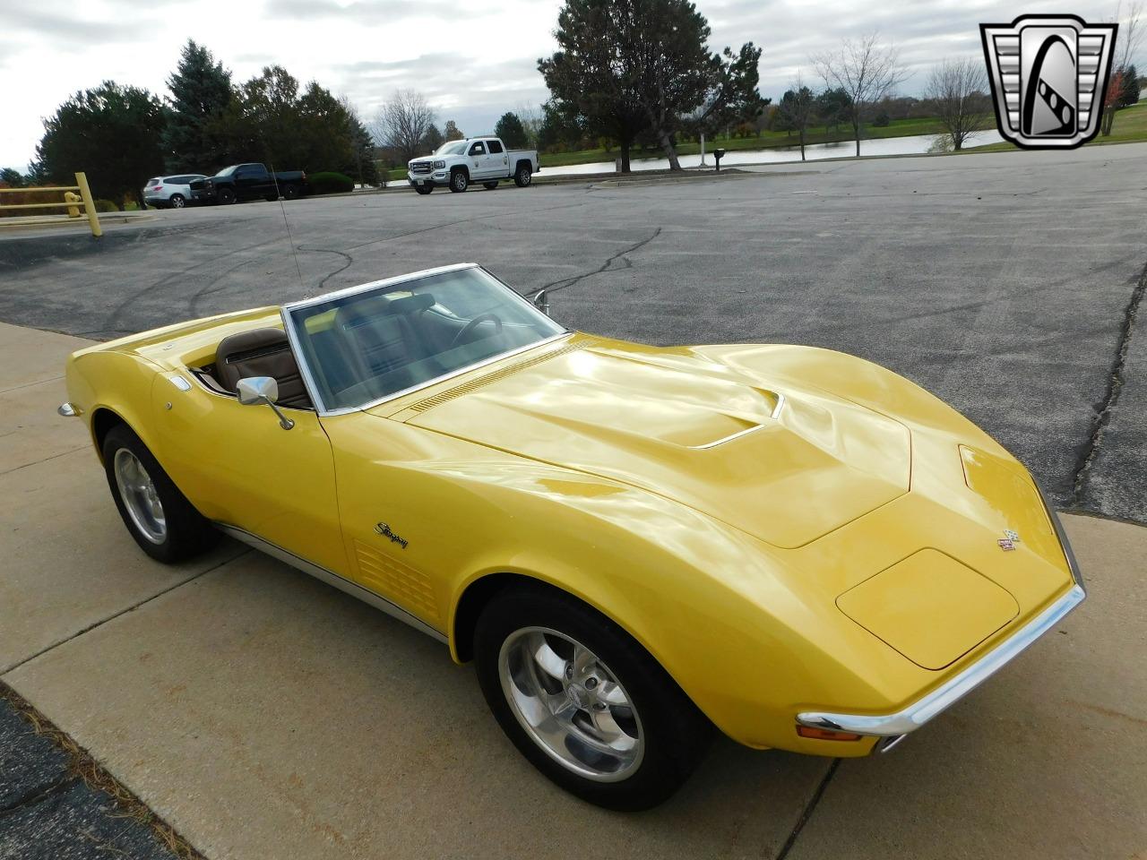
<instances>
[{"instance_id":1,"label":"yellow Corvette Stingray convertible with its top down","mask_svg":"<svg viewBox=\"0 0 1147 860\"><path fill-rule=\"evenodd\" d=\"M475 265L80 350L67 380L146 553L225 532L412 624L612 808L672 793L713 727L888 749L1084 599L1027 470L911 382L570 331Z\"/></svg>"}]
</instances>

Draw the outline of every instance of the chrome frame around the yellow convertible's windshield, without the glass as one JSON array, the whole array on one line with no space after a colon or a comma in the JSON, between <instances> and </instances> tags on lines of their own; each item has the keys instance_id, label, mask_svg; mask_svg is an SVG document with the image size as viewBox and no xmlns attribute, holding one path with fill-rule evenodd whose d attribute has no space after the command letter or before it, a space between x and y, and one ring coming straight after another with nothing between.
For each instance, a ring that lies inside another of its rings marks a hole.
<instances>
[{"instance_id":1,"label":"chrome frame around the yellow convertible's windshield, without the glass","mask_svg":"<svg viewBox=\"0 0 1147 860\"><path fill-rule=\"evenodd\" d=\"M382 404L388 402L389 400L396 400L400 397L406 397L407 394L412 394L415 391L421 391L422 389L437 385L440 382L452 380L457 376L461 376L462 374L468 374L471 370L481 369L486 365L494 363L496 361L501 361L502 359L512 358L513 355L517 355L523 352L529 352L530 350L536 350L539 346L554 343L564 337L569 337L570 335L574 334L570 329L563 326L560 333L543 338L537 343L531 343L526 344L525 346L518 346L513 350L507 350L506 352L501 352L497 355L491 355L490 358L482 359L481 361L476 361L473 365L460 367L457 370L451 370L450 373L443 374L442 376L436 376L432 380L420 382L416 385L403 389L401 391L391 392L384 397L375 398L374 400L367 400L356 406L343 406L336 409L328 409L327 405L322 401L322 397L319 393L319 386L314 381L314 376L311 374L311 367L307 363L306 353L303 351L302 344L299 343L298 333L291 322L291 312L303 307L311 307L313 305L325 304L327 302L330 302L331 299L345 298L348 296L354 296L360 292L369 292L372 290L383 289L388 287L398 287L400 284L421 281L427 277L434 277L435 275L444 274L446 272L458 272L466 268L482 269L484 274L489 275L494 281L505 287L506 290L512 296L514 296L518 302L526 305L531 311L536 313L538 312L538 308L535 307L533 303L530 302L530 299L528 299L525 296L515 290L513 287L502 281L492 272L479 266L477 263L457 263L451 266L437 266L436 268L426 268L420 272L412 272L409 274L398 275L396 277L385 277L381 281L370 281L369 283L360 283L357 287L348 287L342 290L335 290L334 292L325 292L321 296L313 296L311 298L304 298L298 302L290 302L286 305L281 305L279 308L279 314L283 321L283 330L287 333L287 341L290 344L291 352L295 353L295 361L298 363L299 374L303 377L303 385L306 388L306 393L311 397L311 402L314 404L315 412L320 416L326 417L331 415L348 415L353 412L365 412L366 409L373 409L375 406L381 406Z\"/></svg>"}]
</instances>

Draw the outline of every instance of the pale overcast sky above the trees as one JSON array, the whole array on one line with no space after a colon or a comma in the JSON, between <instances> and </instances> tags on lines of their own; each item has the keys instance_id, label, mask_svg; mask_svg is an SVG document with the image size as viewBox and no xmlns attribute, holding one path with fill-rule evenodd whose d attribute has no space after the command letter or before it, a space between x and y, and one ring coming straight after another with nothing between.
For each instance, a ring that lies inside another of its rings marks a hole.
<instances>
[{"instance_id":1,"label":"pale overcast sky above the trees","mask_svg":"<svg viewBox=\"0 0 1147 860\"><path fill-rule=\"evenodd\" d=\"M981 55L980 23L1023 13L1110 19L1115 2L1000 3L931 0L696 0L710 47L764 48L760 91L775 100L811 52L879 30L900 49L916 94L945 56ZM539 56L555 48L560 0L0 0L0 166L26 167L50 115L70 94L111 79L166 94L188 39L205 45L236 83L278 63L346 95L364 119L398 87L422 91L439 125L491 131L507 110L547 96Z\"/></svg>"}]
</instances>

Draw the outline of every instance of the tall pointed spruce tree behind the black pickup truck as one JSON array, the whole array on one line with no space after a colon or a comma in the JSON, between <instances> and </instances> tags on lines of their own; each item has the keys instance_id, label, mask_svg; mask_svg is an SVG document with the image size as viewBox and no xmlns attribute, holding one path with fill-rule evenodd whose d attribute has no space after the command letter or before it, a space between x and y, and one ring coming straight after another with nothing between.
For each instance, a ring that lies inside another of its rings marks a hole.
<instances>
[{"instance_id":1,"label":"tall pointed spruce tree behind the black pickup truck","mask_svg":"<svg viewBox=\"0 0 1147 860\"><path fill-rule=\"evenodd\" d=\"M175 71L167 78L167 88L171 99L163 133L167 172L223 166L229 153L219 146L216 125L235 97L231 72L210 50L188 39Z\"/></svg>"}]
</instances>

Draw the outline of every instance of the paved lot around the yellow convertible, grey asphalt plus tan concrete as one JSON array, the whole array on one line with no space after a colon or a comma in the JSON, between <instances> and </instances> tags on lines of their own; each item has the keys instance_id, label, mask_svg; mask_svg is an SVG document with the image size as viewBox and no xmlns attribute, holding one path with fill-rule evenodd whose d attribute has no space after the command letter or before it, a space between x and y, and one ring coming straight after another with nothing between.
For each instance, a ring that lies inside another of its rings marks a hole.
<instances>
[{"instance_id":1,"label":"paved lot around the yellow convertible, grey asphalt plus tan concrete","mask_svg":"<svg viewBox=\"0 0 1147 860\"><path fill-rule=\"evenodd\" d=\"M551 287L572 328L890 366L984 425L1060 508L1147 523L1145 190L1147 144L1128 144L2 237L0 679L210 858L1139 857L1139 525L1067 517L1089 601L894 753L723 742L670 804L619 815L538 777L431 640L235 545L148 561L53 411L81 338L473 260Z\"/></svg>"}]
</instances>

